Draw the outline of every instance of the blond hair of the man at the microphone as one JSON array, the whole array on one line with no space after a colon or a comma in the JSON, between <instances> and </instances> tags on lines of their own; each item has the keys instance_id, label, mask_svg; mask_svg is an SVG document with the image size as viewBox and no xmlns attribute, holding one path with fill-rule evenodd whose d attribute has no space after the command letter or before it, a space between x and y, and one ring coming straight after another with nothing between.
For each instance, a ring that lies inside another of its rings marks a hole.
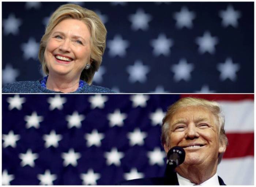
<instances>
[{"instance_id":1,"label":"blond hair of the man at the microphone","mask_svg":"<svg viewBox=\"0 0 256 187\"><path fill-rule=\"evenodd\" d=\"M187 98L182 98L178 100L176 103L172 104L169 106L167 113L165 117L163 118L163 125L162 125L162 135L161 135L161 142L162 145L166 145L169 147L169 142L170 142L170 135L169 135L169 121L170 118L174 115L174 113L183 107L189 107L189 106L201 106L207 108L212 114L215 116L215 125L218 128L218 133L219 133L219 141L224 144L225 146L227 145L227 137L225 134L224 130L224 125L225 125L225 117L221 113L221 107L217 102L209 101L206 99L201 99L201 98L192 98L192 97L187 97ZM223 153L219 154L219 160L218 163L221 162Z\"/></svg>"}]
</instances>

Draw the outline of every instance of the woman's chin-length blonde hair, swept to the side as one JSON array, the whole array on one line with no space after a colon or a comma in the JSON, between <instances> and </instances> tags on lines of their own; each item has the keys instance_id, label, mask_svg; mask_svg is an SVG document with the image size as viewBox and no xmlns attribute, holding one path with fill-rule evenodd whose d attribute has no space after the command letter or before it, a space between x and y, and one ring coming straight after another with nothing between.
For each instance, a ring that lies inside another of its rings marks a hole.
<instances>
[{"instance_id":1,"label":"woman's chin-length blonde hair, swept to the side","mask_svg":"<svg viewBox=\"0 0 256 187\"><path fill-rule=\"evenodd\" d=\"M102 56L106 48L107 30L95 12L76 4L61 5L50 17L48 26L45 29L45 34L43 35L39 46L38 59L42 64L42 69L44 73L47 75L49 74L49 69L47 68L44 58L45 48L53 28L64 19L81 20L86 24L90 31L90 68L83 69L80 79L91 84L94 73L99 69L102 62Z\"/></svg>"}]
</instances>

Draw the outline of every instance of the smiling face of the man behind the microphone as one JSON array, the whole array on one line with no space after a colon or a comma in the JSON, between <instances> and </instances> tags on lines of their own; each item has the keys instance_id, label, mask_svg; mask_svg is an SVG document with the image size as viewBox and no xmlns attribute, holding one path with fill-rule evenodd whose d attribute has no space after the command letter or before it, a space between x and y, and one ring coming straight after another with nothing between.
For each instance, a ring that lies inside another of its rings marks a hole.
<instances>
[{"instance_id":1,"label":"smiling face of the man behind the microphone","mask_svg":"<svg viewBox=\"0 0 256 187\"><path fill-rule=\"evenodd\" d=\"M218 163L218 154L225 151L219 142L216 118L202 106L178 109L169 119L169 147L181 146L186 152L182 165L212 165ZM182 167L180 165L180 167Z\"/></svg>"}]
</instances>

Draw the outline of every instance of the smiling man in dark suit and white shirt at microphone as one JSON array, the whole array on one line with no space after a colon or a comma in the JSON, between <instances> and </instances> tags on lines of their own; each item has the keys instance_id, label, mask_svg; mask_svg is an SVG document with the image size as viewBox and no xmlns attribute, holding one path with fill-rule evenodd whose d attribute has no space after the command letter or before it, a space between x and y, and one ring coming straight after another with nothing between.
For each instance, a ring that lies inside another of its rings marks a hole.
<instances>
[{"instance_id":1,"label":"smiling man in dark suit and white shirt at microphone","mask_svg":"<svg viewBox=\"0 0 256 187\"><path fill-rule=\"evenodd\" d=\"M182 147L184 163L168 176L122 184L225 185L217 175L227 146L224 123L218 103L190 97L178 100L163 118L161 141L166 154L173 146Z\"/></svg>"}]
</instances>

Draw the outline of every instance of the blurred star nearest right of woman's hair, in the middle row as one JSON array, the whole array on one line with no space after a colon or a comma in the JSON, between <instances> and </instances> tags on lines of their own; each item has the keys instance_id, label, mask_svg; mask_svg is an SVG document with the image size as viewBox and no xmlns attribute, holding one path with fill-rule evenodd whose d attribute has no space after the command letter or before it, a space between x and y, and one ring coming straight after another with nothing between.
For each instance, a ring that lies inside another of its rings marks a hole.
<instances>
[{"instance_id":1,"label":"blurred star nearest right of woman's hair, in the middle row","mask_svg":"<svg viewBox=\"0 0 256 187\"><path fill-rule=\"evenodd\" d=\"M123 40L121 35L115 35L113 40L108 41L109 56L124 57L126 54L126 48L129 46L127 40Z\"/></svg>"}]
</instances>

